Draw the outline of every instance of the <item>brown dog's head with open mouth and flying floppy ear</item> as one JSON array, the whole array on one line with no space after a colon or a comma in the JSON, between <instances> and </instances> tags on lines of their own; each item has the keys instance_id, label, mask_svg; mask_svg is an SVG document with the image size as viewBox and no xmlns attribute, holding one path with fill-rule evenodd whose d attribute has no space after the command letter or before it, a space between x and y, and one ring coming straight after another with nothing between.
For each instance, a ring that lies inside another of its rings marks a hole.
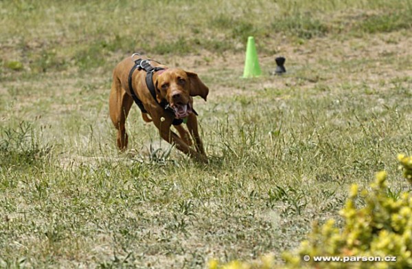
<instances>
[{"instance_id":1,"label":"brown dog's head with open mouth and flying floppy ear","mask_svg":"<svg viewBox=\"0 0 412 269\"><path fill-rule=\"evenodd\" d=\"M159 103L166 100L176 118L185 118L193 112L192 96L201 96L206 100L209 94L209 88L196 73L180 68L159 71L155 85L157 100Z\"/></svg>"}]
</instances>

